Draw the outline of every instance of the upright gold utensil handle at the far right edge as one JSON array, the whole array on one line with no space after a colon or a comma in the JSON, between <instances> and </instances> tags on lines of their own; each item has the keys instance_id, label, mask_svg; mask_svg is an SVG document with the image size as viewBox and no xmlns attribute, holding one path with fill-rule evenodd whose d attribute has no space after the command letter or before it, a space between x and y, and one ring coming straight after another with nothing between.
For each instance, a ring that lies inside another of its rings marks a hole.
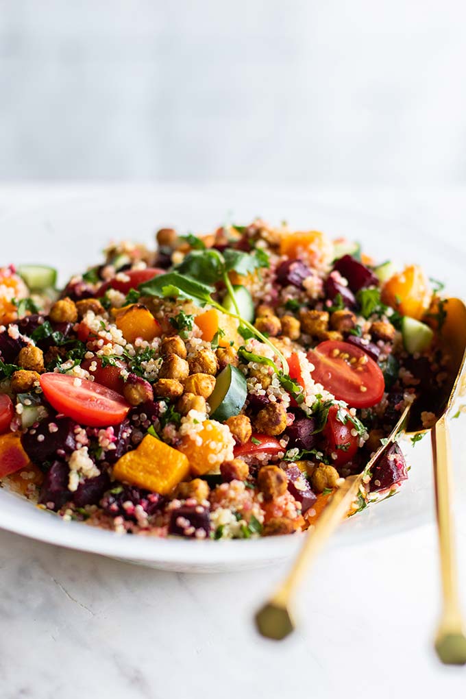
<instances>
[{"instance_id":1,"label":"upright gold utensil handle at the far right edge","mask_svg":"<svg viewBox=\"0 0 466 699\"><path fill-rule=\"evenodd\" d=\"M446 415L443 415L432 428L432 456L442 579L442 613L435 648L443 663L463 665L466 663L466 637L463 632L458 595L458 572L451 512L451 449Z\"/></svg>"}]
</instances>

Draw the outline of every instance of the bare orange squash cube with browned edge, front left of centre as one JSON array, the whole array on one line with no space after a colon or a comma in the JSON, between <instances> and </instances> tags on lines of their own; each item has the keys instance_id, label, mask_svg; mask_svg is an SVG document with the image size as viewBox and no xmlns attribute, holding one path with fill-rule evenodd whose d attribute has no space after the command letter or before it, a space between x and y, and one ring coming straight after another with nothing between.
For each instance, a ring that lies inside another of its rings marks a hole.
<instances>
[{"instance_id":1,"label":"bare orange squash cube with browned edge, front left of centre","mask_svg":"<svg viewBox=\"0 0 466 699\"><path fill-rule=\"evenodd\" d=\"M118 480L168 495L189 473L187 456L146 435L137 449L118 459L113 475Z\"/></svg>"}]
</instances>

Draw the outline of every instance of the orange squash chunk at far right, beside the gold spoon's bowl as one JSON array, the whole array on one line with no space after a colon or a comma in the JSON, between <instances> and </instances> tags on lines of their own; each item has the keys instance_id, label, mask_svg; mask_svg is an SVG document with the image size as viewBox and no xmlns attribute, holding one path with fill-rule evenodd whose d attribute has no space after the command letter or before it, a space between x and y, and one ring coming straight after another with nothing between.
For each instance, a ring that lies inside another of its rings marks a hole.
<instances>
[{"instance_id":1,"label":"orange squash chunk at far right, beside the gold spoon's bowl","mask_svg":"<svg viewBox=\"0 0 466 699\"><path fill-rule=\"evenodd\" d=\"M432 289L421 267L411 265L397 272L381 291L381 300L402 315L421 320L430 305Z\"/></svg>"}]
</instances>

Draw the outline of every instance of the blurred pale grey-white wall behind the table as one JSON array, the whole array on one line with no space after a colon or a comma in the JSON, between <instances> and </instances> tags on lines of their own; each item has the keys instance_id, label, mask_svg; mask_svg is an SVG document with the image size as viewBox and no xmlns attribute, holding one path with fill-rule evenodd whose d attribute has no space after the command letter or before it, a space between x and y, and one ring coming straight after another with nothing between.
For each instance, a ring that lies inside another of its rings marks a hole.
<instances>
[{"instance_id":1,"label":"blurred pale grey-white wall behind the table","mask_svg":"<svg viewBox=\"0 0 466 699\"><path fill-rule=\"evenodd\" d=\"M465 182L462 0L0 0L0 178Z\"/></svg>"}]
</instances>

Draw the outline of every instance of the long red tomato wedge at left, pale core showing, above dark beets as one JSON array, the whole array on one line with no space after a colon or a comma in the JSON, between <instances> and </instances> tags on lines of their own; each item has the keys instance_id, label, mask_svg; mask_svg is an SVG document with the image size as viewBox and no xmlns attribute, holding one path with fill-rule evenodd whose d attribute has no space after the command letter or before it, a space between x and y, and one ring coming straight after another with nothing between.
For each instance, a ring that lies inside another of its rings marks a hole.
<instances>
[{"instance_id":1,"label":"long red tomato wedge at left, pale core showing, above dark beets","mask_svg":"<svg viewBox=\"0 0 466 699\"><path fill-rule=\"evenodd\" d=\"M41 388L55 410L89 427L117 425L130 408L115 391L67 374L41 375Z\"/></svg>"}]
</instances>

